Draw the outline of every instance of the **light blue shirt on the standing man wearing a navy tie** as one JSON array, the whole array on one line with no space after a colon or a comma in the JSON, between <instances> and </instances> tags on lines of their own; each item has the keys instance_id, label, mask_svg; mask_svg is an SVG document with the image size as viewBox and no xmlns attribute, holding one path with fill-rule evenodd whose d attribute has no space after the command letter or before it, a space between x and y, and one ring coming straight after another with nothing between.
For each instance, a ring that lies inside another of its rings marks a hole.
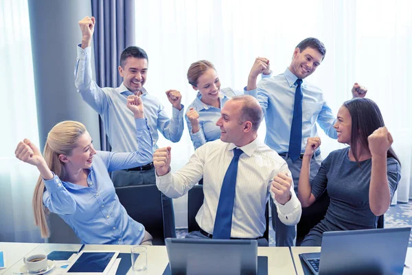
<instances>
[{"instance_id":1,"label":"light blue shirt on the standing man wearing a navy tie","mask_svg":"<svg viewBox=\"0 0 412 275\"><path fill-rule=\"evenodd\" d=\"M295 104L295 82L297 76L287 68L283 74L264 78L257 89L246 91L260 102L266 121L265 143L277 153L289 151L290 127L292 126L293 105ZM336 115L332 113L323 98L323 92L306 80L301 84L304 95L302 103L302 143L301 153L305 152L308 137L316 137L317 124L326 135L336 139L338 135L333 128Z\"/></svg>"}]
</instances>

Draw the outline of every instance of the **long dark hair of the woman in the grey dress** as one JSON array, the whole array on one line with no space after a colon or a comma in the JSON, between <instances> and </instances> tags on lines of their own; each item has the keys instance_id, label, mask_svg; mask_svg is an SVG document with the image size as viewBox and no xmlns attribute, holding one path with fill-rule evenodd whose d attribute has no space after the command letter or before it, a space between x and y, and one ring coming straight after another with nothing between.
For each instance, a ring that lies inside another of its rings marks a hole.
<instances>
[{"instance_id":1,"label":"long dark hair of the woman in the grey dress","mask_svg":"<svg viewBox=\"0 0 412 275\"><path fill-rule=\"evenodd\" d=\"M357 142L352 142L354 140L359 140L365 148L369 151L369 142L367 137L374 133L379 127L385 126L383 122L382 113L378 104L369 98L353 98L352 100L347 100L343 103L343 106L347 108L352 117L352 133L351 133L351 148L352 153L356 159L356 162L359 164L358 155L357 155ZM387 153L387 157L393 157L396 159L399 164L399 158L396 153L393 151L393 148L390 147Z\"/></svg>"}]
</instances>

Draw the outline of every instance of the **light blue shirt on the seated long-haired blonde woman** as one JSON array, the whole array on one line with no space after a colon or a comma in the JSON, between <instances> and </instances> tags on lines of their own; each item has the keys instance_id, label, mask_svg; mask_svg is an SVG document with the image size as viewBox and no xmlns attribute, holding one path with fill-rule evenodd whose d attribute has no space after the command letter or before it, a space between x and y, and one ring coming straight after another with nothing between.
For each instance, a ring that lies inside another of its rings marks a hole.
<instances>
[{"instance_id":1,"label":"light blue shirt on the seated long-haired blonde woman","mask_svg":"<svg viewBox=\"0 0 412 275\"><path fill-rule=\"evenodd\" d=\"M82 243L139 245L144 225L130 218L119 202L108 172L144 165L152 159L152 138L146 119L135 120L139 151L93 156L89 187L61 181L56 175L45 180L43 204L58 214L76 232Z\"/></svg>"}]
</instances>

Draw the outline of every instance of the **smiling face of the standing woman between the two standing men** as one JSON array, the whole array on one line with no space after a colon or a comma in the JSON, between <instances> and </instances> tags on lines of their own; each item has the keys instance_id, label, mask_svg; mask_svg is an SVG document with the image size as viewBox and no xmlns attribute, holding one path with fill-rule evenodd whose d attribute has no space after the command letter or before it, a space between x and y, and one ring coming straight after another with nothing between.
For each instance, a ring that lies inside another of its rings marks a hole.
<instances>
[{"instance_id":1,"label":"smiling face of the standing woman between the two standing men","mask_svg":"<svg viewBox=\"0 0 412 275\"><path fill-rule=\"evenodd\" d=\"M220 80L218 73L214 69L207 69L197 80L197 86L193 89L198 90L202 95L202 102L213 104L219 98Z\"/></svg>"}]
</instances>

